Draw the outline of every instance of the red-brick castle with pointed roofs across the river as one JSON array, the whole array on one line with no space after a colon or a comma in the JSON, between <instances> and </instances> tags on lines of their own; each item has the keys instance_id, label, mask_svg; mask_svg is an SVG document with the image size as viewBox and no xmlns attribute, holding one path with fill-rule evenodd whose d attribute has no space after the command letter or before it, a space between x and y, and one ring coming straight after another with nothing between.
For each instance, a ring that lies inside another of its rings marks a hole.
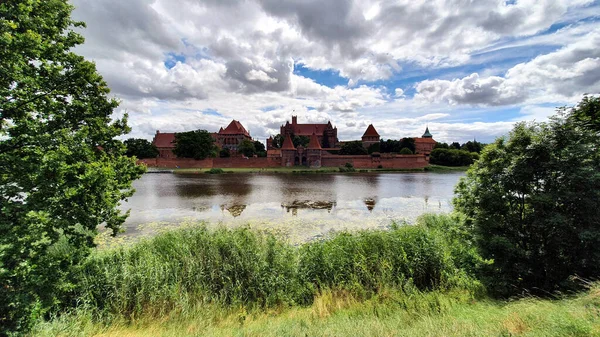
<instances>
[{"instance_id":1,"label":"red-brick castle with pointed roofs across the river","mask_svg":"<svg viewBox=\"0 0 600 337\"><path fill-rule=\"evenodd\" d=\"M342 142L337 138L337 127L333 127L331 122L325 124L299 124L297 116L292 116L292 122L287 121L280 128L280 135L283 137L281 147L274 144L274 138L267 139L267 157L250 158L250 161L238 162L235 155L232 158L214 158L217 164L211 163L214 167L276 167L276 166L343 166L345 163L351 163L355 167L365 168L416 168L424 167L429 163L429 154L435 146L435 140L429 132L429 127L425 133L415 140L415 154L398 155L393 153L374 152L370 155L338 155L333 154L340 150ZM250 133L244 126L236 120L231 121L229 125L219 132L211 134L216 145L219 148L228 148L234 154L238 145L243 140L251 140ZM306 146L295 146L292 137L304 136L309 141ZM373 144L380 142L380 135L373 126L369 124L361 137L364 148L369 148ZM153 144L159 150L159 156L155 161L158 166L159 159L175 159L172 150L174 145L175 133L161 133L156 131ZM239 156L237 156L239 157ZM249 158L245 158L249 159ZM184 160L184 159L181 159ZM223 161L223 163L221 163ZM256 163L254 163L256 161ZM262 163L262 164L261 164ZM186 164L189 165L189 164ZM253 165L253 166L243 166ZM263 166L261 166L263 165ZM177 165L180 166L180 165ZM181 166L185 167L185 166Z\"/></svg>"}]
</instances>

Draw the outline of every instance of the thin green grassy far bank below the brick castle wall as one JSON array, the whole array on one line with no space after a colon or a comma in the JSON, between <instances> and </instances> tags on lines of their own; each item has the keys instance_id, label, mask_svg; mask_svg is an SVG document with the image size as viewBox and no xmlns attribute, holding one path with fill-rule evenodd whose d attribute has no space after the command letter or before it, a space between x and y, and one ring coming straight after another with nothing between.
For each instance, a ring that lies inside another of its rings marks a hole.
<instances>
[{"instance_id":1,"label":"thin green grassy far bank below the brick castle wall","mask_svg":"<svg viewBox=\"0 0 600 337\"><path fill-rule=\"evenodd\" d=\"M228 168L222 169L223 174L229 173L288 173L288 174L327 174L327 173L406 173L406 172L460 172L469 169L468 166L450 167L440 165L429 165L420 169L354 169L354 171L340 170L338 167L308 168L306 166L295 167L270 167L270 168ZM175 174L200 174L209 173L210 169L179 168L171 170Z\"/></svg>"}]
</instances>

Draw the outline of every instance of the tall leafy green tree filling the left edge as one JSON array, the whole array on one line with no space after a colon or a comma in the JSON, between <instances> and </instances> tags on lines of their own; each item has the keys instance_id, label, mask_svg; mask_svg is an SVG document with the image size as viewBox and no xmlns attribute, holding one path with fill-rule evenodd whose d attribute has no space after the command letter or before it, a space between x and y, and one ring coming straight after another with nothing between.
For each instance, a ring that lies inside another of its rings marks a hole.
<instances>
[{"instance_id":1,"label":"tall leafy green tree filling the left edge","mask_svg":"<svg viewBox=\"0 0 600 337\"><path fill-rule=\"evenodd\" d=\"M0 335L64 305L99 225L143 167L116 137L118 102L92 62L67 0L0 2Z\"/></svg>"}]
</instances>

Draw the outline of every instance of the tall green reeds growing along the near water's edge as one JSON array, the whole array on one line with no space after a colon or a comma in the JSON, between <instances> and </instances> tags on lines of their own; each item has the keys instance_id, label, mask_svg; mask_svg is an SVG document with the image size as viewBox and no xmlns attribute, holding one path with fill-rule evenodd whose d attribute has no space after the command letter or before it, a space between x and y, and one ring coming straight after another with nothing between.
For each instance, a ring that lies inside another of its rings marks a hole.
<instances>
[{"instance_id":1,"label":"tall green reeds growing along the near water's edge","mask_svg":"<svg viewBox=\"0 0 600 337\"><path fill-rule=\"evenodd\" d=\"M108 324L187 317L206 306L307 306L328 292L356 300L390 290L475 294L481 285L470 272L481 259L463 226L461 218L430 215L416 225L342 232L293 246L248 228L198 224L95 252L66 307L76 307L75 316L83 313L78 320Z\"/></svg>"}]
</instances>

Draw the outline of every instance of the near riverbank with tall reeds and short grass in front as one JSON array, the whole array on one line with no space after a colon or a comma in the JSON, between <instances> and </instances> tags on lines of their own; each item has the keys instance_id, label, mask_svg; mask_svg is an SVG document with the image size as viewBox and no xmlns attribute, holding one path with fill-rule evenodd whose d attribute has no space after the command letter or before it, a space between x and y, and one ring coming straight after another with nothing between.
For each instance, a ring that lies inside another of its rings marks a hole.
<instances>
[{"instance_id":1,"label":"near riverbank with tall reeds and short grass in front","mask_svg":"<svg viewBox=\"0 0 600 337\"><path fill-rule=\"evenodd\" d=\"M600 286L497 301L460 215L293 246L190 225L96 251L31 336L600 336Z\"/></svg>"}]
</instances>

